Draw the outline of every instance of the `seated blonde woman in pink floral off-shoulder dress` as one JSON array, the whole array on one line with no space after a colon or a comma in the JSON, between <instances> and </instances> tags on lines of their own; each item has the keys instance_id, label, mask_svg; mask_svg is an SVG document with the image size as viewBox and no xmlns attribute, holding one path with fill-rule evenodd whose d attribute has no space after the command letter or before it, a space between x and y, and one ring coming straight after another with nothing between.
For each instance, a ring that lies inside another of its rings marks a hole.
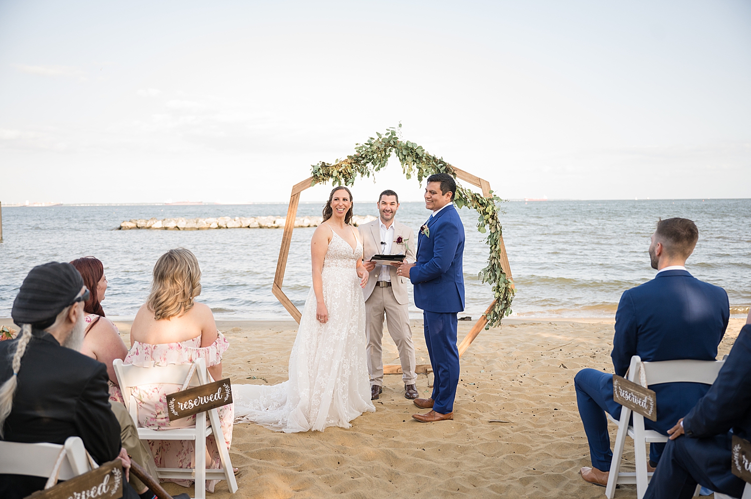
<instances>
[{"instance_id":1,"label":"seated blonde woman in pink floral off-shoulder dress","mask_svg":"<svg viewBox=\"0 0 751 499\"><path fill-rule=\"evenodd\" d=\"M213 380L222 378L222 354L229 342L216 329L211 309L194 299L201 293L201 269L195 255L184 248L161 255L154 266L151 294L131 326L131 350L126 364L151 366L186 364L204 359ZM131 389L138 405L138 421L152 429L195 426L195 416L170 422L167 394L179 384L141 385ZM234 406L219 407L219 419L227 446L232 440ZM207 468L219 467L219 449L213 435L207 437ZM158 467L194 467L192 440L149 440ZM192 480L170 479L185 485ZM218 480L207 480L208 491Z\"/></svg>"}]
</instances>

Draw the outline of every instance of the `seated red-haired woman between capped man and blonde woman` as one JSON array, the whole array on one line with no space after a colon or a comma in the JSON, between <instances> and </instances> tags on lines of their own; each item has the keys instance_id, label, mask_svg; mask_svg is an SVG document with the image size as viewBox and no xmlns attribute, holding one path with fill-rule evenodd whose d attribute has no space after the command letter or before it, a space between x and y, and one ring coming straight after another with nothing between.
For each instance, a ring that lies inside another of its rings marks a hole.
<instances>
[{"instance_id":1,"label":"seated red-haired woman between capped man and blonde woman","mask_svg":"<svg viewBox=\"0 0 751 499\"><path fill-rule=\"evenodd\" d=\"M114 359L125 359L128 353L128 347L120 338L120 332L115 324L104 317L104 310L101 308L101 301L104 299L104 293L107 292L107 277L104 275L104 265L95 257L83 257L73 260L71 265L74 266L81 277L83 284L89 289L89 299L83 304L83 310L86 311L86 331L83 337L83 347L81 353L97 359L107 366L107 376L110 380L107 384L110 387L110 400L122 403L122 394L117 386L117 377L115 369L112 366Z\"/></svg>"}]
</instances>

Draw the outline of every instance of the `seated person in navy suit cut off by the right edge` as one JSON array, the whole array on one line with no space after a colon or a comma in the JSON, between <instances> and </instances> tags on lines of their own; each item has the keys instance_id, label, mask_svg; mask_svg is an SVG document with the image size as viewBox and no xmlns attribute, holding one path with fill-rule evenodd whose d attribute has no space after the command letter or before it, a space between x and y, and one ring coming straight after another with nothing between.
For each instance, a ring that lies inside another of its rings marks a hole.
<instances>
[{"instance_id":1,"label":"seated person in navy suit cut off by the right edge","mask_svg":"<svg viewBox=\"0 0 751 499\"><path fill-rule=\"evenodd\" d=\"M707 395L668 433L645 499L688 499L697 482L731 497L743 494L745 482L730 470L730 446L733 434L751 440L751 312Z\"/></svg>"}]
</instances>

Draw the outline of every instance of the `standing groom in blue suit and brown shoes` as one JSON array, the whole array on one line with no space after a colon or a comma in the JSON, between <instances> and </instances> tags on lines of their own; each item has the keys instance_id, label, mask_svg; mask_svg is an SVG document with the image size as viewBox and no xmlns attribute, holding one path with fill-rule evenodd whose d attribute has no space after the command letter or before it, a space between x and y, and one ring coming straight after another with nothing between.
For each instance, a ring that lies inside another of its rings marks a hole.
<instances>
[{"instance_id":1,"label":"standing groom in blue suit and brown shoes","mask_svg":"<svg viewBox=\"0 0 751 499\"><path fill-rule=\"evenodd\" d=\"M433 211L418 235L415 263L405 263L397 275L415 284L415 305L423 309L425 343L433 366L433 395L415 398L415 405L430 409L412 416L420 422L454 419L454 397L459 383L457 313L464 310L464 226L451 201L457 184L448 173L427 179L425 207Z\"/></svg>"}]
</instances>

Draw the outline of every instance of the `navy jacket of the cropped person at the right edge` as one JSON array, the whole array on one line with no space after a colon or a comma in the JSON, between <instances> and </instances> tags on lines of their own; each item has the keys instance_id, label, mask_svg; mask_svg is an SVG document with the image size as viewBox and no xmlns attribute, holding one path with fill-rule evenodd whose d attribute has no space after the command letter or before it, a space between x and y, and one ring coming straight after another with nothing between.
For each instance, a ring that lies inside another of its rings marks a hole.
<instances>
[{"instance_id":1,"label":"navy jacket of the cropped person at the right edge","mask_svg":"<svg viewBox=\"0 0 751 499\"><path fill-rule=\"evenodd\" d=\"M689 437L733 433L751 440L751 324L740 329L714 384L683 419Z\"/></svg>"}]
</instances>

